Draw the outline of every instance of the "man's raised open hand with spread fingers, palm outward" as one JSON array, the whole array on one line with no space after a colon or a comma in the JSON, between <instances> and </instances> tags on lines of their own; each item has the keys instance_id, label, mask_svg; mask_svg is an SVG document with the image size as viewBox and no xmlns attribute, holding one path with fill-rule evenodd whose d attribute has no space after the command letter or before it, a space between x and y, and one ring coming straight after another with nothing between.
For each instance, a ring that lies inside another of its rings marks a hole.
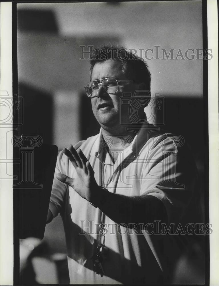
<instances>
[{"instance_id":1,"label":"man's raised open hand with spread fingers, palm outward","mask_svg":"<svg viewBox=\"0 0 219 286\"><path fill-rule=\"evenodd\" d=\"M76 151L72 145L69 145L68 149L64 148L63 151L74 166L78 178L73 179L65 174L57 174L56 178L74 188L82 198L92 202L97 195L99 186L94 178L94 170L90 162L81 149Z\"/></svg>"}]
</instances>

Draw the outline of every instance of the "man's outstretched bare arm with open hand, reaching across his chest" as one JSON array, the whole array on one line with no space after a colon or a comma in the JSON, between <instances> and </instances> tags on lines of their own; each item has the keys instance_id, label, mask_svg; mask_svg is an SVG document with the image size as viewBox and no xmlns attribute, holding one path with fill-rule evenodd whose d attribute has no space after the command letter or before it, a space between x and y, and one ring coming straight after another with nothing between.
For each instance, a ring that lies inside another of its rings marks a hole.
<instances>
[{"instance_id":1,"label":"man's outstretched bare arm with open hand, reaching across his chest","mask_svg":"<svg viewBox=\"0 0 219 286\"><path fill-rule=\"evenodd\" d=\"M69 146L64 148L64 154L72 162L78 178L73 179L65 174L56 177L68 184L84 199L98 206L105 215L116 223L146 224L154 220L167 221L167 212L161 200L150 195L123 196L110 193L98 186L92 169L83 152Z\"/></svg>"}]
</instances>

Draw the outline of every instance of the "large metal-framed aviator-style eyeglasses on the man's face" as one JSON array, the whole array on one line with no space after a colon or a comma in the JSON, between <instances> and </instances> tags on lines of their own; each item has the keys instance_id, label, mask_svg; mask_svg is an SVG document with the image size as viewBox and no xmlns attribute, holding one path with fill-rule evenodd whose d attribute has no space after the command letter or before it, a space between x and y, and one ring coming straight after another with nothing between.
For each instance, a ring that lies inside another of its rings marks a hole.
<instances>
[{"instance_id":1,"label":"large metal-framed aviator-style eyeglasses on the man's face","mask_svg":"<svg viewBox=\"0 0 219 286\"><path fill-rule=\"evenodd\" d=\"M103 86L104 90L109 94L115 94L119 90L119 82L133 82L133 80L116 80L115 78L104 78L102 80L94 80L89 82L84 88L89 97L97 96L99 86Z\"/></svg>"}]
</instances>

